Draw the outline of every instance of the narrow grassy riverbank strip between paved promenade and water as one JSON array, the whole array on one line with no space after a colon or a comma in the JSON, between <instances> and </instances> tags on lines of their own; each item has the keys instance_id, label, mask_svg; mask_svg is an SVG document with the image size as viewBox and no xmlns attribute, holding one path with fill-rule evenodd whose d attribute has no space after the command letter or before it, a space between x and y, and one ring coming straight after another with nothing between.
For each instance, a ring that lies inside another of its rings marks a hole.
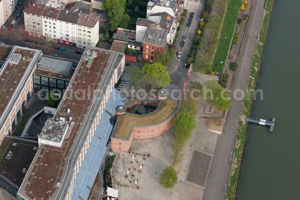
<instances>
[{"instance_id":1,"label":"narrow grassy riverbank strip between paved promenade and water","mask_svg":"<svg viewBox=\"0 0 300 200\"><path fill-rule=\"evenodd\" d=\"M266 8L268 8L268 11L265 11L264 18L262 20L262 25L260 28L260 36L262 39L258 39L259 42L256 43L253 57L251 61L250 66L250 72L249 72L249 79L247 83L247 93L248 91L254 91L256 87L256 81L259 76L260 71L260 62L262 59L263 49L264 45L262 42L265 42L265 35L268 31L268 24L270 23L271 19L271 12L273 7L273 0L265 0L265 5L267 5ZM267 14L267 15L266 15ZM266 17L267 16L267 17ZM249 116L251 111L253 101L253 92L251 93L249 98L244 99L243 107L241 113L243 116ZM247 138L247 123L239 122L238 124L238 131L236 135L236 143L235 148L232 154L231 159L231 168L230 168L230 176L227 184L227 190L226 190L226 199L233 200L236 196L236 190L237 190L237 184L238 184L238 175L239 175L239 169L241 166L241 160L242 155L244 151L244 144Z\"/></svg>"}]
</instances>

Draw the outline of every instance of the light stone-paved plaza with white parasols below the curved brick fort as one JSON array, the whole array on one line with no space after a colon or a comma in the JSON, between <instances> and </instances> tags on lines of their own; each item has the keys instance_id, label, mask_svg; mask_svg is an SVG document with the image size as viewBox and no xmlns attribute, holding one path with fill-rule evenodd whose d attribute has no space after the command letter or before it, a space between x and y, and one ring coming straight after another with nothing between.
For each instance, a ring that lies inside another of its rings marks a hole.
<instances>
[{"instance_id":1,"label":"light stone-paved plaza with white parasols below the curved brick fort","mask_svg":"<svg viewBox=\"0 0 300 200\"><path fill-rule=\"evenodd\" d=\"M156 138L134 139L131 151L138 153L134 159L132 159L132 153L116 151L120 157L116 164L118 168L113 187L119 189L119 199L201 199L204 191L202 188L205 187L208 173L198 173L202 177L202 186L187 181L187 173L190 165L195 162L201 162L201 165L205 163L204 172L209 171L218 134L209 131L207 129L208 122L199 120L199 117L196 119L196 125L196 129L193 130L192 136L183 150L182 162L176 167L178 183L172 189L164 189L159 184L160 173L171 164L172 129ZM200 160L197 160L198 158L192 159L194 151L208 159L202 160L200 157ZM149 158L147 157L148 153L150 153ZM143 154L146 155L146 160L143 160L145 158ZM138 172L140 164L143 164L143 168L141 172ZM130 168L130 171L128 177L125 178L128 168ZM134 168L136 168L136 171ZM131 176L132 174L134 174L134 177ZM137 186L140 186L140 189L136 189L134 184L136 178L138 179ZM132 183L130 183L130 180ZM120 182L123 186L117 186L117 182ZM126 188L124 187L125 184Z\"/></svg>"}]
</instances>

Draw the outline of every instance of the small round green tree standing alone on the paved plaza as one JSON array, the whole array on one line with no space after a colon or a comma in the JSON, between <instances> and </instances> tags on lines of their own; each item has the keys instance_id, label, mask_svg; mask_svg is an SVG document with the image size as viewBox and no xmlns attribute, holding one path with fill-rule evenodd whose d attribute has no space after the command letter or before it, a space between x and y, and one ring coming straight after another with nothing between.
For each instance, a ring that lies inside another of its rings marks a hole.
<instances>
[{"instance_id":1,"label":"small round green tree standing alone on the paved plaza","mask_svg":"<svg viewBox=\"0 0 300 200\"><path fill-rule=\"evenodd\" d=\"M175 169L173 169L171 166L164 169L163 173L161 173L161 176L159 178L159 183L164 188L171 188L177 183L178 177Z\"/></svg>"}]
</instances>

